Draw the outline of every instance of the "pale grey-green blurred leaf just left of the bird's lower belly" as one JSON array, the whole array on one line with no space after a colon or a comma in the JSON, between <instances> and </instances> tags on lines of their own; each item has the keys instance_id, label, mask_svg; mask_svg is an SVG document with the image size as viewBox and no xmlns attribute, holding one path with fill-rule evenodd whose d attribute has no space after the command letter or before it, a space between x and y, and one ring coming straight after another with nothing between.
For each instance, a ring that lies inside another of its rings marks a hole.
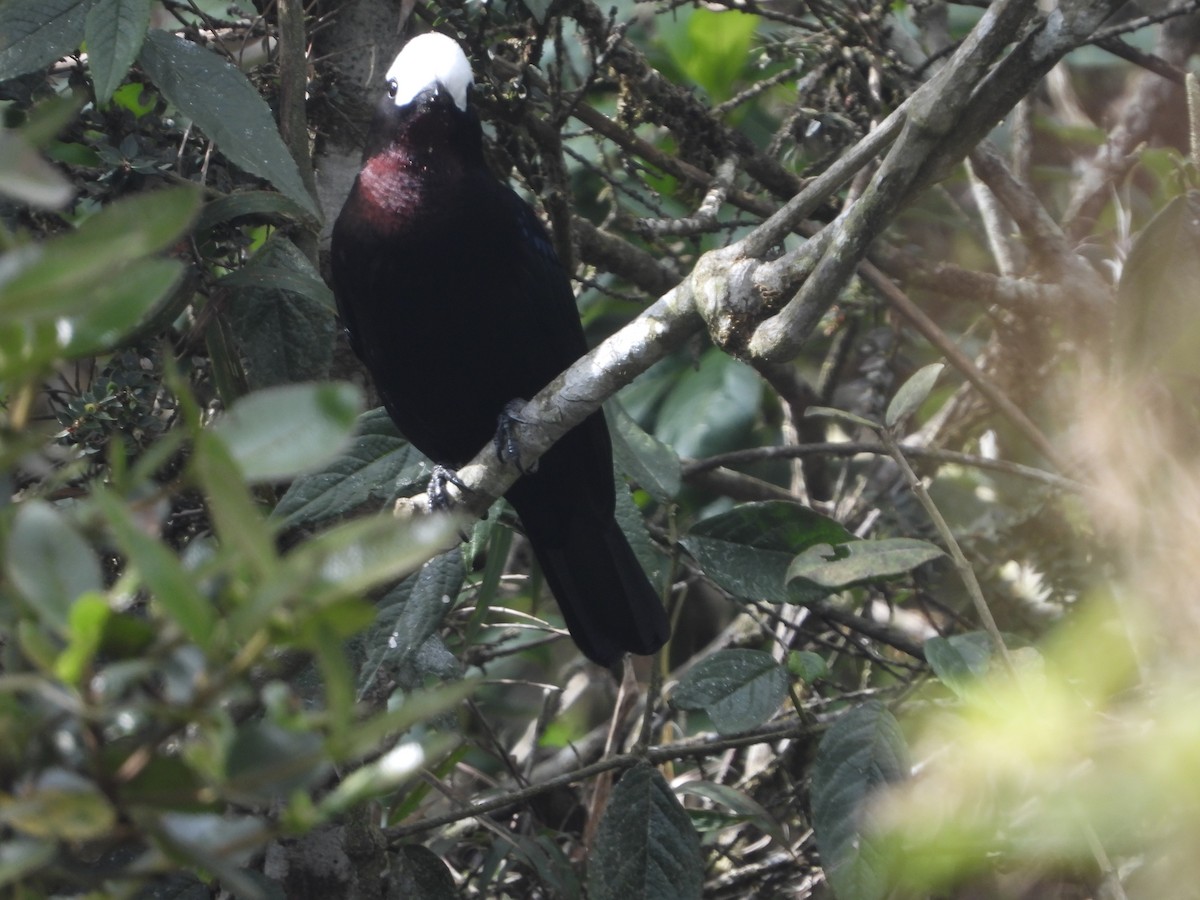
<instances>
[{"instance_id":1,"label":"pale grey-green blurred leaf just left of the bird's lower belly","mask_svg":"<svg viewBox=\"0 0 1200 900\"><path fill-rule=\"evenodd\" d=\"M289 384L250 394L212 428L247 481L282 481L335 458L349 442L362 391L353 384Z\"/></svg>"}]
</instances>

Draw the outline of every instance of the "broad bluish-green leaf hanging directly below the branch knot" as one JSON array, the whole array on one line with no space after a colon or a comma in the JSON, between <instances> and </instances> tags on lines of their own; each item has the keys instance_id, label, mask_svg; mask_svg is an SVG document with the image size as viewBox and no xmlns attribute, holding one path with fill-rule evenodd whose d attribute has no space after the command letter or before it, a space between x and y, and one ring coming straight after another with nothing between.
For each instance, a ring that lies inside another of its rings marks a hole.
<instances>
[{"instance_id":1,"label":"broad bluish-green leaf hanging directly below the branch knot","mask_svg":"<svg viewBox=\"0 0 1200 900\"><path fill-rule=\"evenodd\" d=\"M761 401L758 374L714 348L671 388L654 431L679 456L725 452L745 443Z\"/></svg>"}]
</instances>

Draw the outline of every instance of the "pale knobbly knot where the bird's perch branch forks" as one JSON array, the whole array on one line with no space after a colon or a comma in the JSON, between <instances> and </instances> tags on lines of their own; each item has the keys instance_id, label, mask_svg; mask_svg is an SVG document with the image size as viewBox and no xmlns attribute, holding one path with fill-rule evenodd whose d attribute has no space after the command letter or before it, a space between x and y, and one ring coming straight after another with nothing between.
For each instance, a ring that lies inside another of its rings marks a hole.
<instances>
[{"instance_id":1,"label":"pale knobbly knot where the bird's perch branch forks","mask_svg":"<svg viewBox=\"0 0 1200 900\"><path fill-rule=\"evenodd\" d=\"M739 256L736 247L706 253L691 274L696 308L713 342L744 356L755 326L775 299L756 277L762 260Z\"/></svg>"}]
</instances>

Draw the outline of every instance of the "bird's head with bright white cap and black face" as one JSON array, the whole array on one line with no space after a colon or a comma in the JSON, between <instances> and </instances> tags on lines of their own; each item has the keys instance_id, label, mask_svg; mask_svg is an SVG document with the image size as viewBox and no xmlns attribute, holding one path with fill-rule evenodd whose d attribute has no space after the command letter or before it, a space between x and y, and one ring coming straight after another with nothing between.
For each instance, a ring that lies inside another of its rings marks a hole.
<instances>
[{"instance_id":1,"label":"bird's head with bright white cap and black face","mask_svg":"<svg viewBox=\"0 0 1200 900\"><path fill-rule=\"evenodd\" d=\"M470 107L474 84L467 54L452 38L418 35L388 68L386 94L376 108L366 157L389 146L412 155L458 152L481 146L479 119Z\"/></svg>"}]
</instances>

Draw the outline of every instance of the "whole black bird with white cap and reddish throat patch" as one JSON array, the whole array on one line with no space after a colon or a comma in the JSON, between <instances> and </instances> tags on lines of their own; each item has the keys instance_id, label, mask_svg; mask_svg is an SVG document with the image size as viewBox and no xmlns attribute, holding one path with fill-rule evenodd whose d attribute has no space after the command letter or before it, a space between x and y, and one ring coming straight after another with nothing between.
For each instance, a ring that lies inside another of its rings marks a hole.
<instances>
[{"instance_id":1,"label":"whole black bird with white cap and reddish throat patch","mask_svg":"<svg viewBox=\"0 0 1200 900\"><path fill-rule=\"evenodd\" d=\"M334 289L401 433L457 468L496 436L511 401L545 388L587 344L545 229L484 161L458 44L414 37L386 79L334 226ZM601 413L506 497L584 655L611 666L666 642L666 613L613 515Z\"/></svg>"}]
</instances>

